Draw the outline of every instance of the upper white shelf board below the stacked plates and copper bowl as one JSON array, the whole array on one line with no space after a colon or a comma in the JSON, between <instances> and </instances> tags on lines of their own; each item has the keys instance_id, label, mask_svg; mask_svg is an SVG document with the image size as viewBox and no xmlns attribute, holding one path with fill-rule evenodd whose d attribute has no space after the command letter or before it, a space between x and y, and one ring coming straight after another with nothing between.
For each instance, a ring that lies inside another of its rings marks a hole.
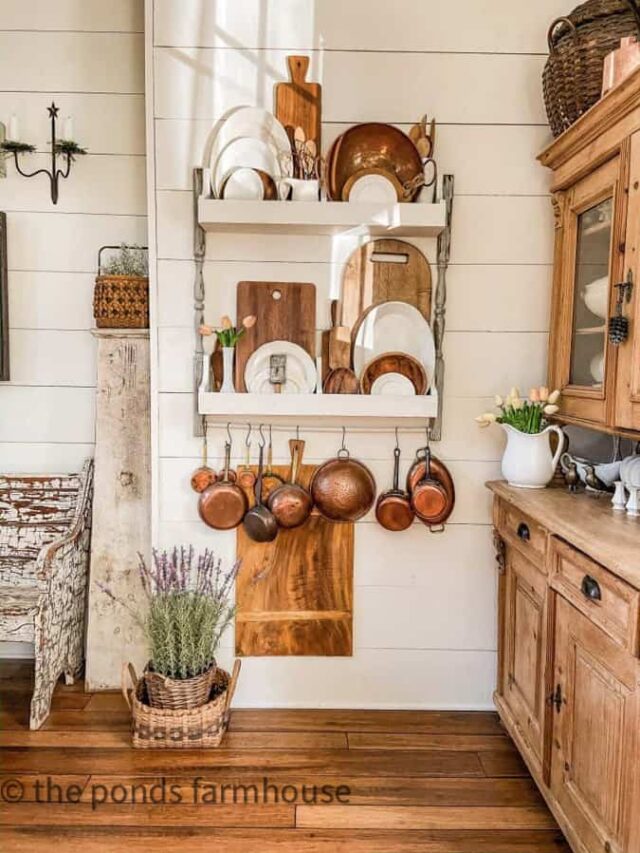
<instances>
[{"instance_id":1,"label":"upper white shelf board below the stacked plates and copper bowl","mask_svg":"<svg viewBox=\"0 0 640 853\"><path fill-rule=\"evenodd\" d=\"M200 198L198 222L213 232L437 237L446 226L446 204Z\"/></svg>"}]
</instances>

